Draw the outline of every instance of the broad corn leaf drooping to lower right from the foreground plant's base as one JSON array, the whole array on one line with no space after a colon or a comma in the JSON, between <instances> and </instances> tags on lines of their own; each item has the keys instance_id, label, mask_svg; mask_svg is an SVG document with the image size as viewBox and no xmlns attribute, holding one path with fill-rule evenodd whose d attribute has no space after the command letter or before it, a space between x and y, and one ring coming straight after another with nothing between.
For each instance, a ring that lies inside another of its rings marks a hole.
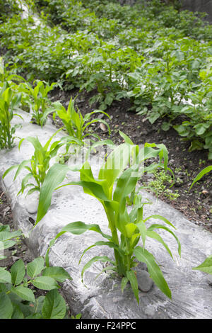
<instances>
[{"instance_id":1,"label":"broad corn leaf drooping to lower right from the foreground plant's base","mask_svg":"<svg viewBox=\"0 0 212 333\"><path fill-rule=\"evenodd\" d=\"M162 271L160 271L160 267L155 263L153 254L148 252L146 249L143 249L142 247L136 247L134 249L134 255L136 256L137 260L145 262L148 268L148 273L155 282L156 286L158 286L158 288L163 293L165 293L168 298L172 298L170 288L168 287L167 282L163 277Z\"/></svg>"}]
</instances>

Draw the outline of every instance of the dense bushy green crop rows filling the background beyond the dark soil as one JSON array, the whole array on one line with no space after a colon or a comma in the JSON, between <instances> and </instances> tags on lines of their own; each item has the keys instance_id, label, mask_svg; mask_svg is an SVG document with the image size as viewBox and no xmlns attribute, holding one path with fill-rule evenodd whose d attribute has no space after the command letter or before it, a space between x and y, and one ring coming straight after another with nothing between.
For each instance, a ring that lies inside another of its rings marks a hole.
<instances>
[{"instance_id":1,"label":"dense bushy green crop rows filling the background beyond the dark soil","mask_svg":"<svg viewBox=\"0 0 212 333\"><path fill-rule=\"evenodd\" d=\"M164 118L163 130L211 159L212 28L159 2L25 1L25 18L14 6L1 14L5 62L29 81L95 91L90 103L102 111L130 98L132 110L151 124Z\"/></svg>"}]
</instances>

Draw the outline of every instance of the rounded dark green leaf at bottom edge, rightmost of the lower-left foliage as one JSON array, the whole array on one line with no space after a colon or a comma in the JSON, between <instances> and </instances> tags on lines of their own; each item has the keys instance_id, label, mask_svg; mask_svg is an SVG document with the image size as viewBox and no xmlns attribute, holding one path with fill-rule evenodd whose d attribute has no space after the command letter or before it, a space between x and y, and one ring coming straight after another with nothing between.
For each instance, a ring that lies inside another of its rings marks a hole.
<instances>
[{"instance_id":1,"label":"rounded dark green leaf at bottom edge, rightmost of the lower-left foliage","mask_svg":"<svg viewBox=\"0 0 212 333\"><path fill-rule=\"evenodd\" d=\"M66 315L66 302L59 294L58 290L50 290L45 296L42 307L42 317L44 319L63 319Z\"/></svg>"}]
</instances>

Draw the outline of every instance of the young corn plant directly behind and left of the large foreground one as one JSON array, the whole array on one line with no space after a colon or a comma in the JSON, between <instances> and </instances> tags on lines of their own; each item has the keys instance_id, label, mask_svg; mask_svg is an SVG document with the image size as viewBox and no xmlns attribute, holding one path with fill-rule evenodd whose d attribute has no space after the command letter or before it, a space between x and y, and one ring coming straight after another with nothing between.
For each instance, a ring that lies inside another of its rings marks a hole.
<instances>
[{"instance_id":1,"label":"young corn plant directly behind and left of the large foreground one","mask_svg":"<svg viewBox=\"0 0 212 333\"><path fill-rule=\"evenodd\" d=\"M50 160L57 155L58 149L62 147L63 145L66 145L66 142L75 142L76 144L81 144L76 138L74 137L62 137L60 140L54 141L52 145L50 145L53 137L60 131L62 128L57 130L52 137L49 138L49 140L46 142L44 146L41 145L40 141L37 137L26 137L25 139L20 140L19 142L19 149L22 145L24 140L27 140L30 142L35 152L33 156L30 159L24 160L20 164L16 164L8 168L3 175L4 177L13 169L17 169L16 174L14 176L14 181L20 174L20 171L23 169L26 169L28 171L28 174L26 174L21 182L21 188L20 191L18 191L18 194L23 193L25 191L25 188L30 187L27 195L35 192L40 191L40 188L42 186L42 183L45 181L45 177L47 174L47 171L49 170L49 163ZM30 181L30 179L33 179L33 181Z\"/></svg>"}]
</instances>

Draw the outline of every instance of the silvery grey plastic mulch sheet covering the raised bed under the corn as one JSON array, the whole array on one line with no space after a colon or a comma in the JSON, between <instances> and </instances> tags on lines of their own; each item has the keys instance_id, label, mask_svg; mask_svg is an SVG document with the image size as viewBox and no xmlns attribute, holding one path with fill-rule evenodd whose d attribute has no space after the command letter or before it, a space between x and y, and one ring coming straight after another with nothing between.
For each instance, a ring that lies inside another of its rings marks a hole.
<instances>
[{"instance_id":1,"label":"silvery grey plastic mulch sheet covering the raised bed under the corn","mask_svg":"<svg viewBox=\"0 0 212 333\"><path fill-rule=\"evenodd\" d=\"M28 115L25 120L29 121ZM44 143L55 132L55 128L49 123L41 129L27 122L23 124L23 128L17 130L16 135L38 136ZM28 159L33 152L33 146L29 142L24 142L20 151L17 145L11 151L1 151L0 175L2 176L9 166ZM93 168L98 169L98 166L93 165ZM15 182L13 175L11 172L4 181L1 179L1 185L4 186L11 201L16 227L28 237L26 242L34 256L45 256L49 241L69 222L81 220L86 223L98 223L103 232L108 232L107 218L102 205L95 198L83 193L80 186L65 186L55 191L47 215L33 229L29 218L36 220L36 213L30 214L28 205L30 200L36 201L36 198L28 197L25 201L24 196L17 197L22 174ZM68 178L76 180L78 174L70 172ZM168 232L160 232L174 254L175 261L173 261L158 242L153 239L146 241L146 249L153 253L161 265L160 268L172 291L172 300L154 284L148 293L139 292L140 304L137 305L130 286L127 286L122 293L119 278L102 273L95 279L103 268L100 262L93 264L86 271L84 274L86 286L84 286L81 282L81 269L84 264L95 255L107 255L113 259L113 251L107 247L95 247L86 252L81 264L78 265L83 250L102 240L102 237L91 231L83 235L66 233L57 240L49 252L49 262L54 266L63 266L73 278L73 281L63 283L62 290L72 312L74 314L81 312L82 318L96 319L211 318L212 287L208 283L208 274L192 271L192 267L201 264L206 256L211 254L212 234L189 222L182 213L162 201L157 201L151 194L143 192L143 198L149 198L153 202L152 205L145 206L146 217L160 214L170 220L177 228L175 233L182 244L182 256L179 258L175 238ZM33 209L36 210L35 207Z\"/></svg>"}]
</instances>

